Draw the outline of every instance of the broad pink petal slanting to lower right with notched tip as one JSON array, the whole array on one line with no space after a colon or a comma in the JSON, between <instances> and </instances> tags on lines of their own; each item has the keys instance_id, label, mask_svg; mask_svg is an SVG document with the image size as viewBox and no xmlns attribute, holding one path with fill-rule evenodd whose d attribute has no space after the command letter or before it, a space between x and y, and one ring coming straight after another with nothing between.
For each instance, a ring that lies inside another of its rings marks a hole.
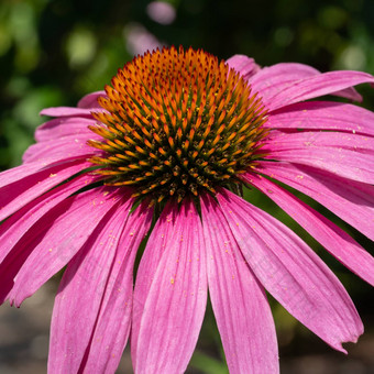
<instances>
[{"instance_id":1,"label":"broad pink petal slanting to lower right with notched tip","mask_svg":"<svg viewBox=\"0 0 374 374\"><path fill-rule=\"evenodd\" d=\"M264 287L332 348L355 342L363 326L344 287L290 229L229 191L217 199L250 267Z\"/></svg>"}]
</instances>

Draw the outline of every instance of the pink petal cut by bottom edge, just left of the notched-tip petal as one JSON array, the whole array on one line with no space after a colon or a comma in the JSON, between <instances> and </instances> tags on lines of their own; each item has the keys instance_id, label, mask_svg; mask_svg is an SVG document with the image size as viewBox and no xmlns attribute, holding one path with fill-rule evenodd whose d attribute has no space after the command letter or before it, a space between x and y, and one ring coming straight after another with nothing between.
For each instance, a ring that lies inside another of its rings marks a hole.
<instances>
[{"instance_id":1,"label":"pink petal cut by bottom edge, just left of the notched-tip petal","mask_svg":"<svg viewBox=\"0 0 374 374\"><path fill-rule=\"evenodd\" d=\"M266 295L209 196L201 199L209 295L230 373L278 373L278 350Z\"/></svg>"}]
</instances>

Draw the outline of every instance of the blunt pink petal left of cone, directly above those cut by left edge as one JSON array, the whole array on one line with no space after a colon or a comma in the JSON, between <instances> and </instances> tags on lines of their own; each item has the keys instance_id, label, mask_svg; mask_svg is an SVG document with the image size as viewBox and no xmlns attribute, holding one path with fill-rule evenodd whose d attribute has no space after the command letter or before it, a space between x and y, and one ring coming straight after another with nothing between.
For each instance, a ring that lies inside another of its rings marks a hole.
<instances>
[{"instance_id":1,"label":"blunt pink petal left of cone, directly above those cut by left edge","mask_svg":"<svg viewBox=\"0 0 374 374\"><path fill-rule=\"evenodd\" d=\"M48 163L50 160L67 161L74 158L89 158L99 151L87 144L88 139L96 140L98 135L90 138L87 134L75 136L65 136L50 142L36 143L26 150L23 154L24 163L43 162Z\"/></svg>"}]
</instances>

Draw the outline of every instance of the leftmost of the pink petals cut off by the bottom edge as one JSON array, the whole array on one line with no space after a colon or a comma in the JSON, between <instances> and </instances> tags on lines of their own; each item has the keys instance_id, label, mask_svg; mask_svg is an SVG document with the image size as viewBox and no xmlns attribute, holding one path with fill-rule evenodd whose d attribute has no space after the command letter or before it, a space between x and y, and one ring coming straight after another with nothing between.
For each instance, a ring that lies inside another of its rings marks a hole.
<instances>
[{"instance_id":1,"label":"leftmost of the pink petals cut off by the bottom edge","mask_svg":"<svg viewBox=\"0 0 374 374\"><path fill-rule=\"evenodd\" d=\"M130 200L114 207L67 265L52 316L48 354L51 374L79 371L130 208Z\"/></svg>"}]
</instances>

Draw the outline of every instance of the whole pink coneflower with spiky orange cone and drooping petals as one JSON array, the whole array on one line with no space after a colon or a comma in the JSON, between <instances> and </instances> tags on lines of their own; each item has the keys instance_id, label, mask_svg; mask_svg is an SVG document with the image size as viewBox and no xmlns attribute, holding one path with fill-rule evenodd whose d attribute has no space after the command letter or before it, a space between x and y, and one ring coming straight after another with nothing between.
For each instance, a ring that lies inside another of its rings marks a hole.
<instances>
[{"instance_id":1,"label":"whole pink coneflower with spiky orange cone and drooping petals","mask_svg":"<svg viewBox=\"0 0 374 374\"><path fill-rule=\"evenodd\" d=\"M129 337L135 373L184 372L208 289L231 373L278 372L265 289L336 350L356 341L339 279L242 193L260 189L373 285L373 257L284 187L374 239L374 113L315 100L360 100L364 82L374 77L170 47L77 108L43 110L55 119L0 175L0 297L20 306L66 266L48 372L114 373Z\"/></svg>"}]
</instances>

